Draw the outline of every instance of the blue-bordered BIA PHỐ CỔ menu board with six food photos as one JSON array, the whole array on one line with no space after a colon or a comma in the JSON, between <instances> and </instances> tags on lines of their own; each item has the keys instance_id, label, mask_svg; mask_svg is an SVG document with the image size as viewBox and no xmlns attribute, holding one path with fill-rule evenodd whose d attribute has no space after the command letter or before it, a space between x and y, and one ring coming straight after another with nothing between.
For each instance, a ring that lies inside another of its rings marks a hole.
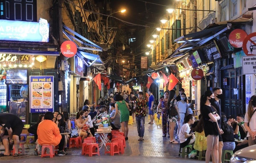
<instances>
[{"instance_id":1,"label":"blue-bordered BIA PH\u1ed0 C\u1ed4 menu board with six food photos","mask_svg":"<svg viewBox=\"0 0 256 163\"><path fill-rule=\"evenodd\" d=\"M53 76L30 76L30 113L53 112Z\"/></svg>"}]
</instances>

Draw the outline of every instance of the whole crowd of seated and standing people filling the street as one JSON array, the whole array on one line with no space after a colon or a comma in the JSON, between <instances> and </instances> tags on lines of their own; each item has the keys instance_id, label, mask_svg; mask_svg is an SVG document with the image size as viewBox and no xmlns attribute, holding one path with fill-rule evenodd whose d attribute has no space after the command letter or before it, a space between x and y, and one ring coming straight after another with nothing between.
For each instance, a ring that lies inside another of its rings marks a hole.
<instances>
[{"instance_id":1,"label":"whole crowd of seated and standing people filling the street","mask_svg":"<svg viewBox=\"0 0 256 163\"><path fill-rule=\"evenodd\" d=\"M160 92L162 93L162 92ZM223 99L222 89L214 88L207 90L200 98L200 115L195 120L193 112L194 105L187 99L184 89L179 90L176 96L174 90L165 91L161 94L156 107L156 114L162 116L163 137L169 137L170 143L180 144L183 148L186 145L194 145L194 149L205 152L205 161L208 163L212 155L214 162L221 162L222 150L237 151L246 146L256 144L256 96L252 96L247 112L226 116L221 112L220 99ZM100 105L104 102L101 97L95 103L90 104L85 100L84 106L78 109L75 125L77 135L82 140L95 136L97 119L104 114L109 114L112 129L121 129L124 132L125 140L128 140L129 116L134 116L136 120L138 141L144 140L145 117L147 113L150 117L148 124L153 124L155 114L154 96L151 89L148 92L137 90L134 92L116 92L110 94L108 106ZM0 114L0 125L2 127L1 138L5 148L1 156L9 156L9 145L15 146L14 156L19 156L17 149L20 144L20 134L23 123L19 117L10 114ZM28 132L34 134L36 148L35 154L39 154L39 145L58 145L57 155L67 154L67 145L71 136L71 121L68 112L55 111L46 112L38 117L36 124L32 125ZM63 134L65 133L65 134ZM174 133L176 136L174 137ZM237 143L236 139L244 139L242 143Z\"/></svg>"}]
</instances>

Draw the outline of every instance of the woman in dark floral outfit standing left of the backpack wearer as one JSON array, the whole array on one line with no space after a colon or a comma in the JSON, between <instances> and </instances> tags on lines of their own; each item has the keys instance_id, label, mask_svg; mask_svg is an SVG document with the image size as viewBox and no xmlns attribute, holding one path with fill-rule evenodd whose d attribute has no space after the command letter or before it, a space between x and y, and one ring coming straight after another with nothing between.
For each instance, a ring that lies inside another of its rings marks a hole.
<instances>
[{"instance_id":1,"label":"woman in dark floral outfit standing left of the backpack wearer","mask_svg":"<svg viewBox=\"0 0 256 163\"><path fill-rule=\"evenodd\" d=\"M168 121L168 116L167 116L167 102L168 102L168 97L169 97L169 92L165 91L164 92L164 98L159 99L159 103L157 105L157 111L156 114L159 112L160 106L162 107L161 109L161 115L162 115L162 131L163 131L163 137L170 137L169 135L169 121Z\"/></svg>"}]
</instances>

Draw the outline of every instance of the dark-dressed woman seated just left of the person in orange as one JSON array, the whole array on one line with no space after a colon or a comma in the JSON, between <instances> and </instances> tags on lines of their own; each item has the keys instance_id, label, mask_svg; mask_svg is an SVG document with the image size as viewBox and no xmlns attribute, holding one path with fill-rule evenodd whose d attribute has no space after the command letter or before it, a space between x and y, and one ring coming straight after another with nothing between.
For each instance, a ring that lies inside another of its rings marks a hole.
<instances>
[{"instance_id":1,"label":"dark-dressed woman seated just left of the person in orange","mask_svg":"<svg viewBox=\"0 0 256 163\"><path fill-rule=\"evenodd\" d=\"M34 134L34 137L35 137L35 144L36 144L36 148L34 149L34 155L39 155L39 152L38 150L40 150L40 145L38 144L38 137L37 137L37 127L38 127L38 124L40 122L44 121L44 114L40 114L38 119L37 119L37 122L36 124L32 125L31 127L29 127L28 129L28 132L31 133L31 134Z\"/></svg>"}]
</instances>

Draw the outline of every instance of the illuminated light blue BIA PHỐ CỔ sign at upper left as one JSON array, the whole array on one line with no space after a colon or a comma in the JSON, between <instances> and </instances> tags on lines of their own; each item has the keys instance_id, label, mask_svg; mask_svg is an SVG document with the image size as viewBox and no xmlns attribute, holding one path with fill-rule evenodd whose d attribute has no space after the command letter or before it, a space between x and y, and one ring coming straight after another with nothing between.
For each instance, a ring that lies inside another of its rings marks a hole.
<instances>
[{"instance_id":1,"label":"illuminated light blue BIA PH\u1ed0 C\u1ed4 sign at upper left","mask_svg":"<svg viewBox=\"0 0 256 163\"><path fill-rule=\"evenodd\" d=\"M38 22L0 20L0 40L49 42L49 24Z\"/></svg>"}]
</instances>

